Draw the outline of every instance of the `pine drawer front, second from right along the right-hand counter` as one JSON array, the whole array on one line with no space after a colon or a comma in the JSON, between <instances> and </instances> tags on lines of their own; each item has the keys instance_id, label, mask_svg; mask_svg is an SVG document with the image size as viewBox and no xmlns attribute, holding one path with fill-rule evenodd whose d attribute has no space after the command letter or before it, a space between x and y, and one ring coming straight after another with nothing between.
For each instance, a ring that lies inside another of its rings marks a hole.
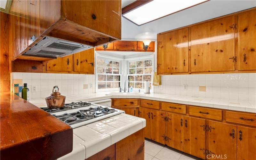
<instances>
[{"instance_id":1,"label":"pine drawer front, second from right along the right-hand counter","mask_svg":"<svg viewBox=\"0 0 256 160\"><path fill-rule=\"evenodd\" d=\"M222 120L222 110L189 106L189 115Z\"/></svg>"}]
</instances>

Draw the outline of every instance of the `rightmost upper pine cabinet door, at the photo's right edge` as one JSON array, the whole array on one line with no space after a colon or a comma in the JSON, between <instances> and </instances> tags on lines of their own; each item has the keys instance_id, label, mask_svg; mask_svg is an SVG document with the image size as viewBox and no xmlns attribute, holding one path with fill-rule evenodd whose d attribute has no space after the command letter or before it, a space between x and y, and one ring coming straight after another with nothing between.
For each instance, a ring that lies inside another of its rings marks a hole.
<instances>
[{"instance_id":1,"label":"rightmost upper pine cabinet door, at the photo's right edge","mask_svg":"<svg viewBox=\"0 0 256 160\"><path fill-rule=\"evenodd\" d=\"M256 10L238 14L238 70L256 70Z\"/></svg>"}]
</instances>

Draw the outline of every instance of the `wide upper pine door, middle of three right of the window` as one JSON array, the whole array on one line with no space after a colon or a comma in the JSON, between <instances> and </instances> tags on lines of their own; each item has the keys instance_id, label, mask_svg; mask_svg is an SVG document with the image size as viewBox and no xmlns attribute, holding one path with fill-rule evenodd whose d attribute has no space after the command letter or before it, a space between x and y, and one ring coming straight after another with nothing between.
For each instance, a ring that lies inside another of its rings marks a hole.
<instances>
[{"instance_id":1,"label":"wide upper pine door, middle of three right of the window","mask_svg":"<svg viewBox=\"0 0 256 160\"><path fill-rule=\"evenodd\" d=\"M191 27L191 72L235 70L235 16Z\"/></svg>"}]
</instances>

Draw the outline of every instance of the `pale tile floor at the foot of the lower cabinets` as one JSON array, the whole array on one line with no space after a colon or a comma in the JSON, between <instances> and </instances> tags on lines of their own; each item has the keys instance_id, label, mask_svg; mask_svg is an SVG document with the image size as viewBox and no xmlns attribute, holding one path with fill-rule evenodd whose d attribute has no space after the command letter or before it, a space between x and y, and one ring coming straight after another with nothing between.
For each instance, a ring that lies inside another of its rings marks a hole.
<instances>
[{"instance_id":1,"label":"pale tile floor at the foot of the lower cabinets","mask_svg":"<svg viewBox=\"0 0 256 160\"><path fill-rule=\"evenodd\" d=\"M145 160L201 160L177 149L145 139Z\"/></svg>"}]
</instances>

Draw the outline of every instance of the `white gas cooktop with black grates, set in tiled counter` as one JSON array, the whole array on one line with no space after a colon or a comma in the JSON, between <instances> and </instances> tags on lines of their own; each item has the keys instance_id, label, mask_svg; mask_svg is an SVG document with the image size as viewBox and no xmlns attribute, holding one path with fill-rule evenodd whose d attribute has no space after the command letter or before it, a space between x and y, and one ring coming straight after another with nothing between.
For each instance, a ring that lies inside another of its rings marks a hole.
<instances>
[{"instance_id":1,"label":"white gas cooktop with black grates, set in tiled counter","mask_svg":"<svg viewBox=\"0 0 256 160\"><path fill-rule=\"evenodd\" d=\"M124 113L124 111L116 108L104 107L82 101L65 104L62 108L41 109L69 124L72 128Z\"/></svg>"}]
</instances>

